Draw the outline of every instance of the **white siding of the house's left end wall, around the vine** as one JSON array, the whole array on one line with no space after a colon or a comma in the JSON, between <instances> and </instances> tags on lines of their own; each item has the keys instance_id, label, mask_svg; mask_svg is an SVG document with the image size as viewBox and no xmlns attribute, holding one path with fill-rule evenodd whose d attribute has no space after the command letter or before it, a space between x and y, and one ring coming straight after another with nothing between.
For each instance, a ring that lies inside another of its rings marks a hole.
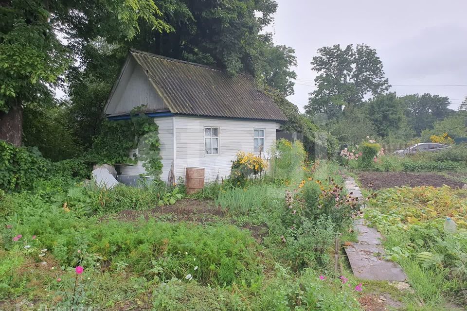
<instances>
[{"instance_id":1,"label":"white siding of the house's left end wall, around the vine","mask_svg":"<svg viewBox=\"0 0 467 311\"><path fill-rule=\"evenodd\" d=\"M160 177L166 182L174 159L173 117L154 118L154 121L159 125L159 139L161 141L162 173ZM132 150L130 155L133 155L134 152ZM146 174L141 161L135 165L122 165L120 171L125 175Z\"/></svg>"}]
</instances>

